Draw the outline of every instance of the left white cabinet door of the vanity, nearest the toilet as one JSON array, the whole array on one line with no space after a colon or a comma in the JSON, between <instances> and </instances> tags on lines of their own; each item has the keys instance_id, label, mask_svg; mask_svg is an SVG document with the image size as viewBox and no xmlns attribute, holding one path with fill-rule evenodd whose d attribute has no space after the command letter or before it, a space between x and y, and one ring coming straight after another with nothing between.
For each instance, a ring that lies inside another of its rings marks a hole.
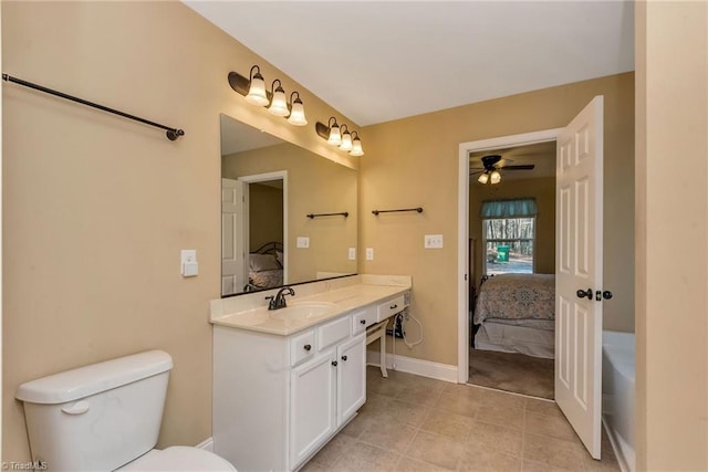
<instances>
[{"instance_id":1,"label":"left white cabinet door of the vanity, nearest the toilet","mask_svg":"<svg viewBox=\"0 0 708 472\"><path fill-rule=\"evenodd\" d=\"M334 352L329 350L292 370L290 469L295 469L334 431L337 367L333 364Z\"/></svg>"}]
</instances>

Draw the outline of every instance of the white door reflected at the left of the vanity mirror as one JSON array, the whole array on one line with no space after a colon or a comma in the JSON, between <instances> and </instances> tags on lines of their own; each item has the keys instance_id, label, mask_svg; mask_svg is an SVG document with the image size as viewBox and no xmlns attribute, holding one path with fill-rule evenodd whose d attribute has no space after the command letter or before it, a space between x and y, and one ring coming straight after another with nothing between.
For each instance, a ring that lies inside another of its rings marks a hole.
<instances>
[{"instance_id":1,"label":"white door reflected at the left of the vanity mirror","mask_svg":"<svg viewBox=\"0 0 708 472\"><path fill-rule=\"evenodd\" d=\"M243 292L243 182L221 179L221 295Z\"/></svg>"}]
</instances>

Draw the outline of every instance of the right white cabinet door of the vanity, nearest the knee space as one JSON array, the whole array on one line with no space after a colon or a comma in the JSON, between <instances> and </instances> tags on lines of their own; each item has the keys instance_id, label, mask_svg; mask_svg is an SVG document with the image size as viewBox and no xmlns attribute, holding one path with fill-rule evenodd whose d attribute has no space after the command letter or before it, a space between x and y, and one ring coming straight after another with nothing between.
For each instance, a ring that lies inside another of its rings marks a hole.
<instances>
[{"instance_id":1,"label":"right white cabinet door of the vanity, nearest the knee space","mask_svg":"<svg viewBox=\"0 0 708 472\"><path fill-rule=\"evenodd\" d=\"M366 335L362 333L336 348L336 423L344 423L366 401Z\"/></svg>"}]
</instances>

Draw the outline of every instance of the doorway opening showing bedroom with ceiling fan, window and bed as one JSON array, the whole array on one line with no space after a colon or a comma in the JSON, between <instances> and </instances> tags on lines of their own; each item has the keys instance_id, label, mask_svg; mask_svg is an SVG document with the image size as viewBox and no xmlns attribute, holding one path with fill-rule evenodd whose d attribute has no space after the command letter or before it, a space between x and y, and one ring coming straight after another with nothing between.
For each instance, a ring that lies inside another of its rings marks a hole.
<instances>
[{"instance_id":1,"label":"doorway opening showing bedroom with ceiling fan, window and bed","mask_svg":"<svg viewBox=\"0 0 708 472\"><path fill-rule=\"evenodd\" d=\"M553 398L555 140L469 154L468 384Z\"/></svg>"}]
</instances>

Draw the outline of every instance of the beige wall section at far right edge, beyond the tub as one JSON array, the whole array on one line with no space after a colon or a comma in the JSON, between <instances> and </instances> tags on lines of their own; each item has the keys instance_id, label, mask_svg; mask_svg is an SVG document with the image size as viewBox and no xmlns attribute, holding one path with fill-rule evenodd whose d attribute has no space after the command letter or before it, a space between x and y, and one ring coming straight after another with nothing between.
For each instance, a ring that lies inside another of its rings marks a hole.
<instances>
[{"instance_id":1,"label":"beige wall section at far right edge, beyond the tub","mask_svg":"<svg viewBox=\"0 0 708 472\"><path fill-rule=\"evenodd\" d=\"M636 10L637 469L705 471L708 4Z\"/></svg>"}]
</instances>

